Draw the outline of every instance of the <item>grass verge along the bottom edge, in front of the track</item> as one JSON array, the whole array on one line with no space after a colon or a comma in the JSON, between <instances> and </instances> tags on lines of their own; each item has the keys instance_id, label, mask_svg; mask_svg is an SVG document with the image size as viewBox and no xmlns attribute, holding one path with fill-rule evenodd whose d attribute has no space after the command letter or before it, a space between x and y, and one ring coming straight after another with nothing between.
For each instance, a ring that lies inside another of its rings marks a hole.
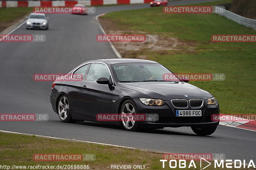
<instances>
[{"instance_id":1,"label":"grass verge along the bottom edge, in front of the track","mask_svg":"<svg viewBox=\"0 0 256 170\"><path fill-rule=\"evenodd\" d=\"M94 161L34 161L34 154L84 154L96 155ZM40 138L28 135L0 133L0 165L4 166L58 166L58 165L89 165L89 169L110 169L110 165L145 165L145 169L162 170L162 153L132 150L90 143L79 143L66 140ZM187 162L188 168L189 162ZM212 165L214 164L211 161ZM195 161L196 169L200 169L200 161ZM203 162L202 167L208 163ZM109 167L109 168L107 168ZM148 167L148 168L147 168ZM179 166L178 166L179 167ZM169 163L165 163L169 168ZM55 168L56 169L56 168ZM112 168L113 169L113 168ZM179 168L172 168L179 169ZM192 168L195 169L195 168ZM222 169L222 168L217 168ZM227 168L224 168L227 169ZM234 168L233 168L234 169ZM242 168L240 168L242 169ZM238 169L236 169L238 170Z\"/></svg>"}]
</instances>

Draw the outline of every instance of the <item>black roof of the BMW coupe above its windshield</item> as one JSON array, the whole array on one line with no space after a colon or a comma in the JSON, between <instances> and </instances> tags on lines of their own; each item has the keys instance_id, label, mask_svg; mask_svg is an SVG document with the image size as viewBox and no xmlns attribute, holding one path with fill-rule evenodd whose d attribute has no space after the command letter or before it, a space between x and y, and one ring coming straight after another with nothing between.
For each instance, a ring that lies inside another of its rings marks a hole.
<instances>
[{"instance_id":1,"label":"black roof of the BMW coupe above its windshield","mask_svg":"<svg viewBox=\"0 0 256 170\"><path fill-rule=\"evenodd\" d=\"M159 64L156 61L136 59L136 58L105 58L105 59L91 60L91 61L88 61L88 62L102 62L102 63L109 63L109 64L122 64L122 63L154 63L154 64Z\"/></svg>"}]
</instances>

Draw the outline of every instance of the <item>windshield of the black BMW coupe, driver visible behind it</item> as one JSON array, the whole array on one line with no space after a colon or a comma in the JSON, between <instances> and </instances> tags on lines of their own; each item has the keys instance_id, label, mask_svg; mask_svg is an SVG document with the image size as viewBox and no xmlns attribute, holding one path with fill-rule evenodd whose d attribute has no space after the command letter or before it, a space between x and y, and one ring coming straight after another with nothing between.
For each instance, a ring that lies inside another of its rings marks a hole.
<instances>
[{"instance_id":1,"label":"windshield of the black BMW coupe, driver visible behind it","mask_svg":"<svg viewBox=\"0 0 256 170\"><path fill-rule=\"evenodd\" d=\"M180 81L161 64L125 63L112 65L119 82Z\"/></svg>"}]
</instances>

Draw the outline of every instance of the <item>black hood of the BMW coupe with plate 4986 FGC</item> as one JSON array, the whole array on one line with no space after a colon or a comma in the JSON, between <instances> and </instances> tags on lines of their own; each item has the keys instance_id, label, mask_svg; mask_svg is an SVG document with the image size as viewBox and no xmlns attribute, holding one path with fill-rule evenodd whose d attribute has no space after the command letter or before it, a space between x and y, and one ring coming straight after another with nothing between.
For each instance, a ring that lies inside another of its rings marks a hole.
<instances>
[{"instance_id":1,"label":"black hood of the BMW coupe with plate 4986 FGC","mask_svg":"<svg viewBox=\"0 0 256 170\"><path fill-rule=\"evenodd\" d=\"M139 91L150 98L162 100L177 98L201 98L206 100L213 97L209 92L185 82L133 82L118 83L118 86ZM184 95L188 95L188 97Z\"/></svg>"}]
</instances>

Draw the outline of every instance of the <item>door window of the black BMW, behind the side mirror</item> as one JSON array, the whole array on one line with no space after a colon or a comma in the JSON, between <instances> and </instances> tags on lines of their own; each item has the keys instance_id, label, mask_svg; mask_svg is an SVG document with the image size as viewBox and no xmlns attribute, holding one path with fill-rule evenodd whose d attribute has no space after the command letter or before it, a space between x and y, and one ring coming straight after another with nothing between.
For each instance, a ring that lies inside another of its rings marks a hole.
<instances>
[{"instance_id":1,"label":"door window of the black BMW, behind the side mirror","mask_svg":"<svg viewBox=\"0 0 256 170\"><path fill-rule=\"evenodd\" d=\"M101 77L110 79L108 67L104 64L92 63L89 68L86 80L96 82Z\"/></svg>"}]
</instances>

